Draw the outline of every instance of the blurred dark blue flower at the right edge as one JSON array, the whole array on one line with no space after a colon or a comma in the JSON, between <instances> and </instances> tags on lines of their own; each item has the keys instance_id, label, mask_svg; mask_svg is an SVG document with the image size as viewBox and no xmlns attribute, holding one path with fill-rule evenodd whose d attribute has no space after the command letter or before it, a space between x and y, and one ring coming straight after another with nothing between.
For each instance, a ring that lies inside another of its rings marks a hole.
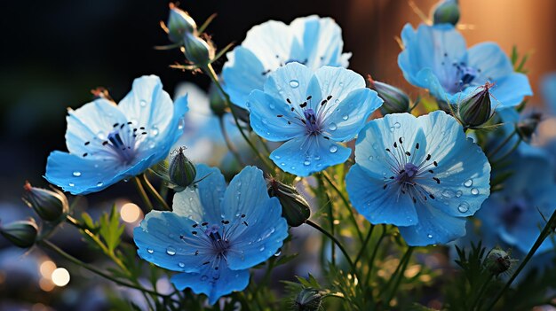
<instances>
[{"instance_id":1,"label":"blurred dark blue flower at the right edge","mask_svg":"<svg viewBox=\"0 0 556 311\"><path fill-rule=\"evenodd\" d=\"M493 192L476 214L482 226L492 229L508 245L528 253L540 230L556 210L551 160L541 152L516 152L511 157L512 175L504 190ZM552 249L550 239L538 252Z\"/></svg>"}]
</instances>

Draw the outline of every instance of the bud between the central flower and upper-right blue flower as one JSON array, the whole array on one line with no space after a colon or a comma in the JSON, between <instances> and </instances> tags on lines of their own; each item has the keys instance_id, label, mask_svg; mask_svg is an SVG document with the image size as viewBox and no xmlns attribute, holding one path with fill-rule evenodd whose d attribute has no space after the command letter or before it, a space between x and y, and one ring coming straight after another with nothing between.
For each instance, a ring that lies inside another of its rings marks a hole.
<instances>
[{"instance_id":1,"label":"bud between the central flower and upper-right blue flower","mask_svg":"<svg viewBox=\"0 0 556 311\"><path fill-rule=\"evenodd\" d=\"M403 90L384 82L377 82L373 80L370 74L367 75L367 80L369 81L369 88L375 90L378 97L384 100L384 103L380 106L380 112L383 115L409 112L409 96Z\"/></svg>"}]
</instances>

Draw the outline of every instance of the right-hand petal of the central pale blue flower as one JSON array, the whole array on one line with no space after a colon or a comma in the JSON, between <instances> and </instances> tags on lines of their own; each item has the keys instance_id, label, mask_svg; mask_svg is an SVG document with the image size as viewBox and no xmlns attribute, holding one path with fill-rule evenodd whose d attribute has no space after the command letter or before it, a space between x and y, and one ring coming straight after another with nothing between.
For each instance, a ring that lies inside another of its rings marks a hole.
<instances>
[{"instance_id":1,"label":"right-hand petal of the central pale blue flower","mask_svg":"<svg viewBox=\"0 0 556 311\"><path fill-rule=\"evenodd\" d=\"M370 114L382 103L383 100L374 90L367 88L353 90L323 122L324 128L333 140L351 140L365 126Z\"/></svg>"}]
</instances>

